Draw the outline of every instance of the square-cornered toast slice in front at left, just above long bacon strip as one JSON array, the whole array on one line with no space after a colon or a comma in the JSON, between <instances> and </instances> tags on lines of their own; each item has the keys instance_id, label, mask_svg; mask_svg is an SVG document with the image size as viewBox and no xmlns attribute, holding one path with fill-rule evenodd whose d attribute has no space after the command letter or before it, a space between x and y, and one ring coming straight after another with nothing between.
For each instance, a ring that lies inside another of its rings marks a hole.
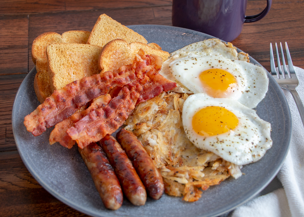
<instances>
[{"instance_id":1,"label":"square-cornered toast slice in front at left, just above long bacon strip","mask_svg":"<svg viewBox=\"0 0 304 217\"><path fill-rule=\"evenodd\" d=\"M51 91L72 81L98 74L101 47L90 44L56 43L47 46L48 75Z\"/></svg>"}]
</instances>

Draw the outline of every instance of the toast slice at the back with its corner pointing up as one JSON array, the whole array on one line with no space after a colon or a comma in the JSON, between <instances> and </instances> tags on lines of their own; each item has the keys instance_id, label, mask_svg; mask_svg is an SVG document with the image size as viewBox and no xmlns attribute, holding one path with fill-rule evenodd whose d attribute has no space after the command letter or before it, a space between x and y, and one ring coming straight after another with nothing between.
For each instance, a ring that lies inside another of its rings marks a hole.
<instances>
[{"instance_id":1,"label":"toast slice at the back with its corner pointing up","mask_svg":"<svg viewBox=\"0 0 304 217\"><path fill-rule=\"evenodd\" d=\"M147 40L143 36L134 32L132 29L123 26L105 14L98 17L88 38L87 44L103 47L109 41L118 38L124 39L128 43L136 41L147 44Z\"/></svg>"}]
</instances>

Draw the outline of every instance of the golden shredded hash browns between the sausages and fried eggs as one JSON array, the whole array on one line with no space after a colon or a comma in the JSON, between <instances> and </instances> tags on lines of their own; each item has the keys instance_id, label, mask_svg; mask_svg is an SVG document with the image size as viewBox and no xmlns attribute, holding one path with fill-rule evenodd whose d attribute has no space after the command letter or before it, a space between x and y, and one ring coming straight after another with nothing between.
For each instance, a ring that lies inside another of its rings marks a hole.
<instances>
[{"instance_id":1,"label":"golden shredded hash browns between the sausages and fried eggs","mask_svg":"<svg viewBox=\"0 0 304 217\"><path fill-rule=\"evenodd\" d=\"M165 192L197 201L211 185L232 175L241 175L240 167L216 154L196 148L185 135L181 112L187 94L162 93L140 103L126 120L125 129L133 131L161 171Z\"/></svg>"}]
</instances>

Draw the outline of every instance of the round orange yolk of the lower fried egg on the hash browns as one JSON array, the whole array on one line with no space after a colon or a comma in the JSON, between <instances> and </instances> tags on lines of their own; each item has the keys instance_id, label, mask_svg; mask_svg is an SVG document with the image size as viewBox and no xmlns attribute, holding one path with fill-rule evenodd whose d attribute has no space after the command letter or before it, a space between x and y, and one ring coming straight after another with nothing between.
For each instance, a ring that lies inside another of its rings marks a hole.
<instances>
[{"instance_id":1,"label":"round orange yolk of the lower fried egg on the hash browns","mask_svg":"<svg viewBox=\"0 0 304 217\"><path fill-rule=\"evenodd\" d=\"M213 136L236 128L238 122L237 116L226 108L208 106L195 113L192 126L201 136Z\"/></svg>"}]
</instances>

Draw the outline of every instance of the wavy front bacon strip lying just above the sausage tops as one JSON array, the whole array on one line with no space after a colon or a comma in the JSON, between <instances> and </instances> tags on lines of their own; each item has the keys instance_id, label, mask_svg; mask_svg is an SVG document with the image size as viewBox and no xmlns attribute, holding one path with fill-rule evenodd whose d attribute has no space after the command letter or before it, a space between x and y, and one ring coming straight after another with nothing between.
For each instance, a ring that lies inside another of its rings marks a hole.
<instances>
[{"instance_id":1,"label":"wavy front bacon strip lying just above the sausage tops","mask_svg":"<svg viewBox=\"0 0 304 217\"><path fill-rule=\"evenodd\" d=\"M84 148L89 143L114 133L133 112L141 91L140 84L135 87L124 86L108 105L90 112L76 122L74 127L67 129L67 134L76 140L78 147Z\"/></svg>"}]
</instances>

